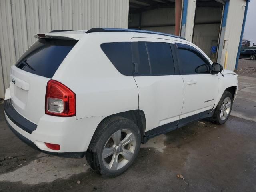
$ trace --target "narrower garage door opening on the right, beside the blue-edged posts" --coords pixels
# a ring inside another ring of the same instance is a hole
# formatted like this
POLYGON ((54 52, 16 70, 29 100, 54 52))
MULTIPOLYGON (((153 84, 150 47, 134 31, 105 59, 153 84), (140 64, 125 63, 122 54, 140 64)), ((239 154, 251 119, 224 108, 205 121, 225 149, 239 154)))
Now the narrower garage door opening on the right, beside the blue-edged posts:
POLYGON ((197 0, 192 42, 200 47, 213 62, 221 29, 224 4, 215 0, 197 0))

